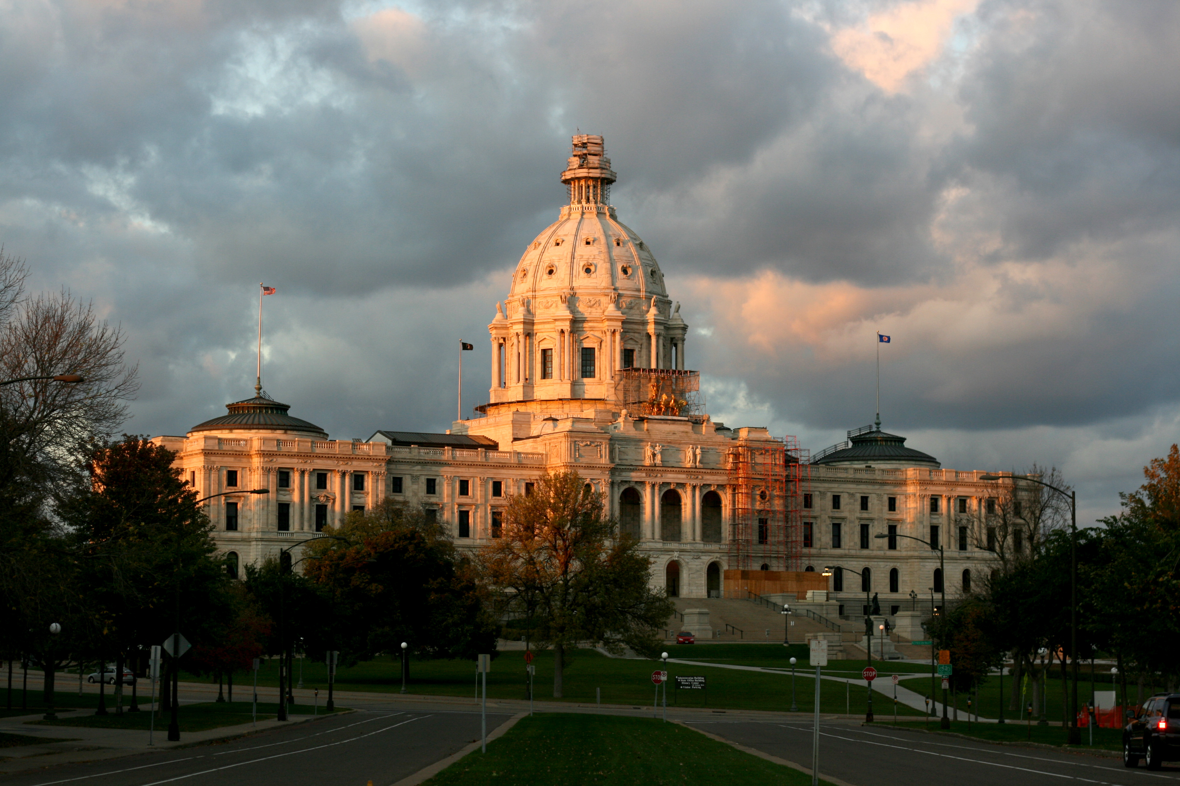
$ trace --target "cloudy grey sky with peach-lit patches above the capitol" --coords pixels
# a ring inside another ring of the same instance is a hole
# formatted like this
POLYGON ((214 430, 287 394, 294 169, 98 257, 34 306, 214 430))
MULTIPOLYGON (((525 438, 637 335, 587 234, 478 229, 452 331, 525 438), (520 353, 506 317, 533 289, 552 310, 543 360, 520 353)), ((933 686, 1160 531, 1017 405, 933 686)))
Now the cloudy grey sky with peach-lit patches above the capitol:
MULTIPOLYGON (((1174 0, 0 0, 0 243, 93 299, 183 434, 263 382, 445 429, 607 137, 729 425, 873 418, 1062 468, 1080 521, 1180 440, 1174 0)), ((470 409, 468 409, 470 411, 470 409)))

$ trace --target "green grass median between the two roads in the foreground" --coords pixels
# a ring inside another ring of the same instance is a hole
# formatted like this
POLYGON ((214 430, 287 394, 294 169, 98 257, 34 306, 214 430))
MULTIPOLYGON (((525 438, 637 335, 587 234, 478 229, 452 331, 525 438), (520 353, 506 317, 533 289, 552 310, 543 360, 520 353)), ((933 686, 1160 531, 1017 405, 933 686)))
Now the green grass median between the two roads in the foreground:
MULTIPOLYGON (((742 753, 699 732, 649 718, 538 714, 474 751, 430 786, 500 784, 811 784, 796 770, 742 753)), ((827 781, 821 781, 827 782, 827 781)))

